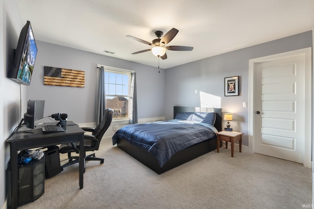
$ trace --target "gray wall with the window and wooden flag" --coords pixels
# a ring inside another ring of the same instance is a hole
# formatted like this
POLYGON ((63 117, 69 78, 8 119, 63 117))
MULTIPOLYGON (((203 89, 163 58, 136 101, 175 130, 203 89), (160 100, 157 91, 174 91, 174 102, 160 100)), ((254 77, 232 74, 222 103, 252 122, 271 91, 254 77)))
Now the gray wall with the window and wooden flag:
POLYGON ((67 113, 76 123, 96 121, 97 64, 134 70, 138 118, 164 116, 164 70, 65 46, 36 41, 38 53, 26 99, 45 100, 44 116, 67 113), (44 85, 44 66, 85 71, 85 88, 44 85))

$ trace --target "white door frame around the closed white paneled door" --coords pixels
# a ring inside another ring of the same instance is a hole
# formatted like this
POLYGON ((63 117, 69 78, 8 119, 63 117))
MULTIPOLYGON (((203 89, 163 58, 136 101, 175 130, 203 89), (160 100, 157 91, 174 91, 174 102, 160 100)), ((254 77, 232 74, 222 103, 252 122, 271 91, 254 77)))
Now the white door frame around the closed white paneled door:
POLYGON ((256 79, 256 65, 261 62, 273 61, 287 58, 290 56, 304 54, 305 56, 305 144, 304 144, 304 163, 305 167, 312 167, 312 47, 297 49, 279 54, 273 54, 265 57, 259 57, 249 60, 249 153, 255 153, 254 150, 254 125, 255 110, 254 107, 254 80, 256 79))

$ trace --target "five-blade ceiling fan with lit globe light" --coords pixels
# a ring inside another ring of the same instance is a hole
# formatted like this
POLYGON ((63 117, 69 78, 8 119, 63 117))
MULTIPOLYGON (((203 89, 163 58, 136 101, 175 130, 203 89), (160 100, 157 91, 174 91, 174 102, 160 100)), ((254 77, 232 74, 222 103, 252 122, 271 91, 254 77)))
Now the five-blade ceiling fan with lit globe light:
POLYGON ((141 51, 134 52, 132 54, 139 54, 146 51, 152 51, 155 56, 161 59, 167 59, 166 49, 173 50, 173 51, 191 51, 193 50, 193 47, 191 46, 165 46, 168 44, 179 32, 176 28, 172 28, 169 30, 161 39, 160 37, 163 35, 163 32, 160 30, 155 31, 155 35, 157 36, 157 39, 154 39, 152 43, 149 43, 147 41, 144 41, 142 39, 133 37, 133 36, 127 36, 128 38, 131 38, 135 41, 141 42, 143 44, 147 44, 150 46, 153 46, 153 48, 150 49, 144 49, 141 51))

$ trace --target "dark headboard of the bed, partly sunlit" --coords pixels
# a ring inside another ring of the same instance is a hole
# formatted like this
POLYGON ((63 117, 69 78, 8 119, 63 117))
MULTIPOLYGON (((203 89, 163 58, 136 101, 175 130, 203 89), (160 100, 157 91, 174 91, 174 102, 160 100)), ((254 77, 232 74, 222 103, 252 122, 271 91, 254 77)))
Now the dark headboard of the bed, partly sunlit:
POLYGON ((215 128, 218 131, 222 131, 222 112, 221 108, 209 108, 209 107, 173 107, 173 118, 176 117, 177 113, 188 113, 188 112, 203 112, 203 113, 216 113, 215 128))

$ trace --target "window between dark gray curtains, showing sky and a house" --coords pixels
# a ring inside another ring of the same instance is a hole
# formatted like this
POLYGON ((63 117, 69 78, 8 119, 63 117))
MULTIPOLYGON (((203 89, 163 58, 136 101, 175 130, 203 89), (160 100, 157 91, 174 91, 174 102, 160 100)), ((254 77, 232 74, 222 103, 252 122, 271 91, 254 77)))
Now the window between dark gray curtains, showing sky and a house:
POLYGON ((106 108, 113 110, 113 119, 129 119, 131 73, 105 69, 106 108))

